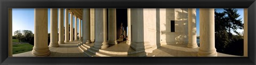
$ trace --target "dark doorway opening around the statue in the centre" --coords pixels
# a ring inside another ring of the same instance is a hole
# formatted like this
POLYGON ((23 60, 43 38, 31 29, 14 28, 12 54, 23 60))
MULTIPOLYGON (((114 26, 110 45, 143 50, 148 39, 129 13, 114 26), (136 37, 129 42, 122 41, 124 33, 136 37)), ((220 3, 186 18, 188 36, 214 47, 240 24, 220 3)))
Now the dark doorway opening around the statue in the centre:
POLYGON ((116 38, 119 39, 121 32, 121 23, 123 23, 125 36, 127 35, 127 8, 116 8, 116 38))

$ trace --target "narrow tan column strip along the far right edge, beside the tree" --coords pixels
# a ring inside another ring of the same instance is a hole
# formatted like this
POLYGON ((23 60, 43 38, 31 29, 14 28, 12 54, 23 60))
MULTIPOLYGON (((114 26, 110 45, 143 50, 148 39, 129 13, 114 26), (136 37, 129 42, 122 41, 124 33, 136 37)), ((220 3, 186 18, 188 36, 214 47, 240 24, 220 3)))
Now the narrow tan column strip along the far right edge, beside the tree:
POLYGON ((247 8, 244 8, 244 57, 248 57, 248 21, 247 8))

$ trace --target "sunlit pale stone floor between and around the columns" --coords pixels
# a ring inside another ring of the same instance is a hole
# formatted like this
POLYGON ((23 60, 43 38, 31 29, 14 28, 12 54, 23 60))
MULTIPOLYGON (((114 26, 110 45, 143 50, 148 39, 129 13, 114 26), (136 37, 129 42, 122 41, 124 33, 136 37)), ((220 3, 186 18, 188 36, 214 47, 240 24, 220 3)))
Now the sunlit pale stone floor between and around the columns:
MULTIPOLYGON (((65 44, 60 44, 60 47, 54 48, 49 47, 51 54, 49 57, 88 57, 82 51, 78 49, 78 42, 68 42, 65 44)), ((90 44, 92 46, 93 44, 90 44)), ((150 55, 154 55, 154 57, 197 57, 197 51, 199 48, 187 48, 187 44, 173 44, 173 45, 161 45, 156 50, 153 50, 153 53, 149 53, 150 55)), ((108 51, 134 51, 130 48, 130 45, 125 43, 119 43, 116 45, 112 45, 107 49, 108 51)), ((31 54, 31 51, 13 54, 13 57, 35 57, 31 54)), ((224 54, 218 52, 218 57, 240 57, 236 55, 224 54)))

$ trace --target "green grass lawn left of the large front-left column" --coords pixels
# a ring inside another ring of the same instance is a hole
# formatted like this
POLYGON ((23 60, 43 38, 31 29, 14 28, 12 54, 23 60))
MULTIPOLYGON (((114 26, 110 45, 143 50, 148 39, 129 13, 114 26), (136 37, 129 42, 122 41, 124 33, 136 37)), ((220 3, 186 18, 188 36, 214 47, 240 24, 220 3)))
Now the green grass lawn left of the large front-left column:
POLYGON ((22 53, 33 50, 33 45, 29 43, 13 44, 12 54, 22 53))

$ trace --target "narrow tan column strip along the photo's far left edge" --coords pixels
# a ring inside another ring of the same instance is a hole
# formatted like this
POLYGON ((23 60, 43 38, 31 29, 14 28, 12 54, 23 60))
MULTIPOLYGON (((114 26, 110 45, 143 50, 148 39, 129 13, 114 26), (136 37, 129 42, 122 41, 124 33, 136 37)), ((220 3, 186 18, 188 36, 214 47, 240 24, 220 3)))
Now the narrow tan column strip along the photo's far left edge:
POLYGON ((8 9, 8 18, 9 18, 9 27, 8 27, 8 31, 9 31, 9 35, 8 35, 8 57, 12 57, 12 8, 8 9))

